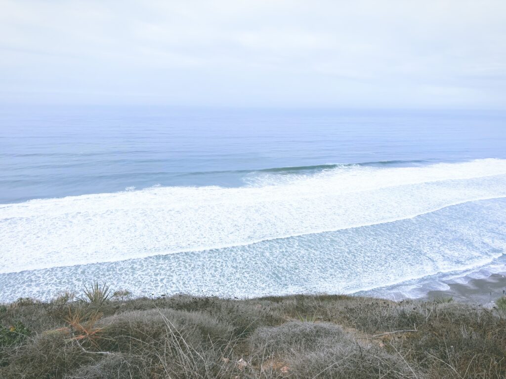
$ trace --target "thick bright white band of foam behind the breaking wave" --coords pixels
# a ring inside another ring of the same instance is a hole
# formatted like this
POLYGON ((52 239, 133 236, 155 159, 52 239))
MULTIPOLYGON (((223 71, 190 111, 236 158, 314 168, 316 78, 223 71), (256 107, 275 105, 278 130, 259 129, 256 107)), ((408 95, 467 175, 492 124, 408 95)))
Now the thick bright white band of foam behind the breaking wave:
POLYGON ((0 273, 247 245, 501 197, 506 160, 484 159, 32 200, 0 206, 0 273))

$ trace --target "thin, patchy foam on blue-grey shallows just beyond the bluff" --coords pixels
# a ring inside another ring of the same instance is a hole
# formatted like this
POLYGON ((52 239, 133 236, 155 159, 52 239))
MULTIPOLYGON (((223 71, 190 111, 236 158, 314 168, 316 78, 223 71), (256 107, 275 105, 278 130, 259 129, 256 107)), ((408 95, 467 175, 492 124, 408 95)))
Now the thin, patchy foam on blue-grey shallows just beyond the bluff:
POLYGON ((92 278, 136 296, 294 293, 423 296, 455 275, 506 271, 506 199, 412 219, 224 249, 0 274, 0 301, 79 292, 92 278), (388 286, 388 287, 386 287, 388 286))

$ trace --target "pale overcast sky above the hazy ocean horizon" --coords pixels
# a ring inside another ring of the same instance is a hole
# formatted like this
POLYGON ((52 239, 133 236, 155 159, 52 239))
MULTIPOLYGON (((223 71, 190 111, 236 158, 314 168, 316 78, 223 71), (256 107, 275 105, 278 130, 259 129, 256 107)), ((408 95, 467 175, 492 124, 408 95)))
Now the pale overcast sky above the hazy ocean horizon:
POLYGON ((506 107, 506 2, 0 0, 0 103, 506 107))

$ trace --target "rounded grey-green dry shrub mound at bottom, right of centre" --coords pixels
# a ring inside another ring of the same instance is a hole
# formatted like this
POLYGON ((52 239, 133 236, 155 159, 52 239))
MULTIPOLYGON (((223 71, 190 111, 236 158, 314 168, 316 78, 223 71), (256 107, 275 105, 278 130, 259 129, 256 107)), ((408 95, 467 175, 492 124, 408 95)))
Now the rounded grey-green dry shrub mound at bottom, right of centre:
POLYGON ((331 323, 287 322, 249 338, 257 357, 274 357, 294 378, 415 377, 399 357, 357 342, 331 323))

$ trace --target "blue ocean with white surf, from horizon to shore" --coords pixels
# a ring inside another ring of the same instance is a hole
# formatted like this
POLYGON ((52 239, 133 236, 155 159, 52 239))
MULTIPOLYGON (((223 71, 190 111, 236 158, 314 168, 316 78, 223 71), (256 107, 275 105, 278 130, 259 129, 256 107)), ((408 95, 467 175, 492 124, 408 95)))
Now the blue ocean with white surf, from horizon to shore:
POLYGON ((0 301, 418 297, 506 271, 506 114, 0 110, 0 301))

